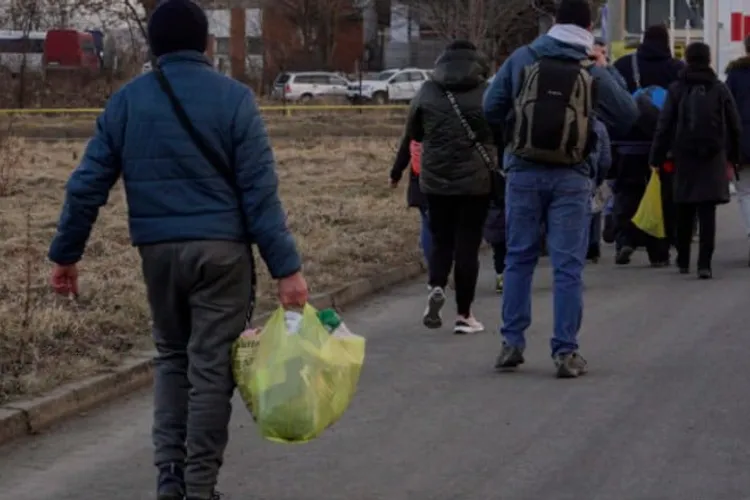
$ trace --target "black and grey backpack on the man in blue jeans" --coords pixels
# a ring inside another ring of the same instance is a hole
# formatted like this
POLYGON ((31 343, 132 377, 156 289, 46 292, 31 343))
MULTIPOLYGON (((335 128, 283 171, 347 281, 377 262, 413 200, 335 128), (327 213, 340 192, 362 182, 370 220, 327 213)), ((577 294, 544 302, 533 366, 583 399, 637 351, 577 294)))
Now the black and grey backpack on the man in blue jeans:
POLYGON ((593 146, 592 61, 540 58, 514 101, 510 151, 545 165, 578 165, 593 146))

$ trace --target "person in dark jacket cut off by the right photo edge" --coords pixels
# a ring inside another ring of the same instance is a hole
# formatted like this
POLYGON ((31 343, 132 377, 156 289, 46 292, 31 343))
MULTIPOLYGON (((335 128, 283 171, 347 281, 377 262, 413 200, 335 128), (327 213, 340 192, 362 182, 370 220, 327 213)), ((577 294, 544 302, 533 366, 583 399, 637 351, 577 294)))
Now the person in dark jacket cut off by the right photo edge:
MULTIPOLYGON (((729 63, 726 73, 727 87, 734 97, 742 120, 742 159, 735 186, 737 204, 745 223, 745 231, 750 237, 750 37, 745 38, 745 55, 729 63)), ((750 254, 748 265, 750 266, 750 254)))

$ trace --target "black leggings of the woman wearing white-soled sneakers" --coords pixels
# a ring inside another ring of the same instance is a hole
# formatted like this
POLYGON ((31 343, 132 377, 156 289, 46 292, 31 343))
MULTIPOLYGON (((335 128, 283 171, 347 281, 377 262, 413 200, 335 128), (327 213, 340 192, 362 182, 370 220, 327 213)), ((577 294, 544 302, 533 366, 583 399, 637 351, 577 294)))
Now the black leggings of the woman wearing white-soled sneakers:
POLYGON ((427 195, 432 254, 430 286, 445 288, 448 275, 456 282, 458 314, 471 314, 479 276, 479 245, 489 209, 489 196, 427 195))

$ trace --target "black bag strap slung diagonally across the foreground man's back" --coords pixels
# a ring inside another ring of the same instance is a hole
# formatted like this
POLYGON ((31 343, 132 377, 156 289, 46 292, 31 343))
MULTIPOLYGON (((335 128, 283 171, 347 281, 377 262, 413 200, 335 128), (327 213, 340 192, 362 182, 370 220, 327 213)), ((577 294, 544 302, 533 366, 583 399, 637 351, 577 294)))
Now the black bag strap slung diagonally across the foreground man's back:
MULTIPOLYGON (((206 141, 206 139, 201 135, 198 129, 196 129, 195 126, 192 124, 192 122, 190 121, 190 118, 185 112, 185 108, 182 107, 180 100, 177 99, 177 96, 175 95, 174 90, 172 89, 172 86, 169 83, 169 80, 167 80, 167 76, 164 74, 164 72, 159 67, 159 65, 155 64, 155 61, 154 61, 152 62, 152 66, 153 66, 152 72, 154 76, 156 77, 157 81, 159 82, 159 86, 161 87, 162 91, 169 98, 169 102, 172 104, 172 110, 174 111, 174 114, 177 115, 177 119, 179 120, 180 125, 182 125, 182 128, 190 136, 190 139, 193 141, 193 143, 201 152, 201 154, 206 159, 206 161, 208 161, 208 163, 224 178, 226 183, 234 191, 235 197, 237 198, 237 206, 240 211, 240 220, 242 221, 242 229, 243 231, 247 232, 247 228, 248 228, 247 215, 245 214, 245 208, 242 205, 243 193, 240 190, 239 184, 237 184, 237 178, 235 177, 234 172, 229 167, 229 165, 224 161, 221 155, 217 153, 216 150, 214 150, 209 145, 208 141, 206 141)), ((250 291, 250 303, 248 304, 248 308, 247 308, 246 322, 247 322, 247 325, 249 326, 250 320, 252 319, 253 312, 255 310, 255 292, 256 292, 257 283, 258 283, 258 276, 255 272, 255 258, 253 256, 253 247, 252 247, 252 242, 250 242, 249 236, 248 236, 248 250, 250 252, 251 291, 250 291)))

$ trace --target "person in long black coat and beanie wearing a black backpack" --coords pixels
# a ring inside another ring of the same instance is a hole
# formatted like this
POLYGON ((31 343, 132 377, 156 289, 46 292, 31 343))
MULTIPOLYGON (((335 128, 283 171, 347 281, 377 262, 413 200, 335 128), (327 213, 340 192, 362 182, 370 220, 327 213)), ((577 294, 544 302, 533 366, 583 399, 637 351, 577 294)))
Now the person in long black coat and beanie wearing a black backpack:
POLYGON ((672 151, 677 265, 681 273, 689 272, 693 221, 697 216, 700 228, 698 276, 709 279, 716 240, 716 206, 729 202, 727 166, 740 160, 742 131, 732 94, 711 69, 708 45, 692 43, 685 56, 687 67, 680 79, 669 87, 659 116, 650 163, 661 167, 667 153, 672 151), (699 125, 693 126, 693 122, 699 125), (697 144, 693 134, 707 134, 707 130, 715 132, 715 136, 706 135, 697 144))

